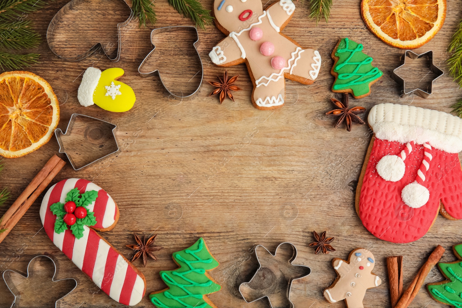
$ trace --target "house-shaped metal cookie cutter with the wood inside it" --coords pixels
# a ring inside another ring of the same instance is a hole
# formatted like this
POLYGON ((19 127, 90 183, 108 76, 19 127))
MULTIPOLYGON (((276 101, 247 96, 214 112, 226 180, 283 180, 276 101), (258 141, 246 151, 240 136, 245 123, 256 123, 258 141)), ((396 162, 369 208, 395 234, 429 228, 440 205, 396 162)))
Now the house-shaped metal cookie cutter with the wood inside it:
POLYGON ((55 130, 59 152, 65 153, 78 171, 120 151, 116 139, 117 126, 88 115, 73 114, 66 128, 55 130))

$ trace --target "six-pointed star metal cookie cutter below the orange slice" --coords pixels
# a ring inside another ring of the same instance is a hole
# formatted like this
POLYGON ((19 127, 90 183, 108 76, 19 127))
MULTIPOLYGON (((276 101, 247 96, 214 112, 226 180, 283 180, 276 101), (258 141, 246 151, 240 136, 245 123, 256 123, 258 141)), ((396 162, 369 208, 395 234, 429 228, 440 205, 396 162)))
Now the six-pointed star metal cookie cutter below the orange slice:
POLYGON ((430 51, 427 51, 426 53, 423 53, 423 54, 416 54, 414 53, 413 51, 411 50, 406 50, 404 52, 404 54, 401 56, 401 65, 396 67, 393 72, 391 73, 390 77, 391 79, 395 80, 402 88, 401 92, 405 95, 411 95, 412 93, 415 93, 416 95, 418 95, 419 97, 422 97, 422 98, 427 98, 429 97, 430 95, 432 95, 432 88, 433 88, 433 81, 435 81, 436 79, 438 79, 440 76, 442 76, 444 74, 444 72, 436 65, 433 64, 433 50, 430 50, 430 51), (430 71, 432 71, 433 73, 435 73, 437 75, 437 77, 435 79, 432 80, 432 83, 430 84, 430 86, 428 87, 428 92, 427 91, 424 91, 424 90, 421 90, 421 89, 414 89, 412 91, 409 91, 409 92, 406 92, 406 86, 405 86, 405 83, 404 83, 404 79, 401 78, 397 73, 396 73, 396 70, 398 70, 399 68, 401 68, 401 66, 405 65, 406 64, 406 57, 409 57, 411 58, 412 60, 415 60, 415 59, 419 59, 419 58, 422 58, 422 57, 428 57, 428 68, 430 69, 430 71))

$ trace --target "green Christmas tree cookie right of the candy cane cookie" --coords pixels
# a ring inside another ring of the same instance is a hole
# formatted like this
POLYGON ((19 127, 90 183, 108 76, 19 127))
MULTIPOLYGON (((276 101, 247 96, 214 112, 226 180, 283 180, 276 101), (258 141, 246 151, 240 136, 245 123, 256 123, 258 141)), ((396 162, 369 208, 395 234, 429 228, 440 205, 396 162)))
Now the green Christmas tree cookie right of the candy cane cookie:
POLYGON ((168 288, 149 295, 158 308, 216 308, 206 294, 217 292, 221 286, 207 274, 219 266, 219 262, 200 238, 188 249, 173 254, 180 266, 174 271, 160 271, 160 277, 168 288))

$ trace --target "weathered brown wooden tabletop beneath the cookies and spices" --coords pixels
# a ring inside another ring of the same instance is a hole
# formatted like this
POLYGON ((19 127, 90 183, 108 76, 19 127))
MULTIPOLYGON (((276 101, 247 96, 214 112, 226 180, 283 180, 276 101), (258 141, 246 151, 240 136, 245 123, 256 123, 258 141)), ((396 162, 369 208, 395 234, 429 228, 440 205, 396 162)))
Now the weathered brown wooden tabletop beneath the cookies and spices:
MULTIPOLYGON (((201 2, 206 8, 212 8, 211 0, 201 2)), ((261 301, 246 304, 238 292, 239 284, 251 278, 256 269, 252 248, 258 244, 270 251, 280 242, 296 245, 296 263, 310 266, 312 273, 293 283, 291 299, 296 307, 306 308, 345 307, 343 302, 329 304, 322 290, 335 278, 331 260, 345 259, 357 247, 369 248, 375 255, 374 272, 383 281, 379 287, 367 291, 365 307, 390 306, 387 256, 404 256, 405 285, 437 244, 447 250, 442 261, 455 260, 450 248, 462 242, 460 221, 439 215, 426 236, 408 244, 378 240, 363 227, 354 209, 354 196, 371 131, 367 125, 357 124, 350 133, 343 125, 334 129, 334 120, 324 113, 332 108, 329 97, 340 98, 330 91, 334 81, 330 74, 333 64, 330 54, 338 40, 346 36, 363 43, 365 53, 374 58, 373 65, 384 72, 383 78, 372 86, 370 96, 350 100, 353 106, 370 109, 377 103, 401 103, 450 112, 450 106, 461 97, 462 91, 444 68, 448 57, 445 51, 460 18, 462 1, 448 0, 443 28, 431 42, 415 50, 417 53, 433 50, 435 63, 445 72, 435 81, 434 94, 428 99, 400 97, 398 85, 389 75, 399 66, 404 51, 383 43, 366 28, 359 2, 334 0, 329 23, 321 21, 318 26, 308 19, 308 1, 296 3, 294 17, 283 33, 303 47, 319 50, 321 72, 313 85, 287 80, 286 105, 269 111, 252 106, 252 85, 245 65, 228 69, 229 75, 240 75, 237 85, 243 88, 234 92, 235 102, 225 100, 220 105, 218 97, 208 97, 214 88, 206 82, 194 100, 169 99, 158 78, 138 75, 140 62, 152 50, 150 31, 154 27, 140 29, 137 20, 122 30, 122 52, 117 63, 112 63, 100 51, 78 62, 61 60, 43 40, 38 48, 41 63, 29 70, 46 79, 55 90, 61 104, 58 127, 65 130, 73 113, 109 121, 117 125, 116 135, 122 149, 117 156, 83 171, 74 171, 68 163, 52 184, 78 177, 103 187, 116 200, 121 212, 116 228, 103 236, 126 257, 132 255, 125 245, 134 243, 133 232, 146 233, 146 236, 157 233, 157 245, 164 247, 156 253, 158 261, 148 260, 146 268, 141 261, 134 263, 147 281, 146 296, 137 307, 152 307, 147 294, 164 288, 159 271, 175 269, 172 253, 189 247, 201 236, 220 262, 211 276, 222 285, 222 290, 209 296, 220 308, 267 307, 267 303, 261 301), (120 80, 132 86, 137 96, 134 108, 117 114, 96 105, 81 106, 77 89, 81 74, 88 66, 122 67, 125 75, 120 80), (313 230, 327 230, 328 236, 335 237, 332 245, 337 250, 328 255, 315 255, 308 247, 313 241, 313 230)), ((65 3, 66 0, 53 1, 30 15, 43 38, 52 17, 65 3)), ((155 5, 156 27, 192 25, 166 0, 158 0, 155 5)), ((106 23, 104 18, 97 19, 101 24, 106 23)), ((214 66, 208 53, 225 36, 214 26, 198 31, 204 79, 215 80, 224 69, 214 66)), ((174 90, 191 87, 187 82, 192 77, 190 74, 196 73, 197 64, 188 63, 185 52, 193 51, 194 40, 187 33, 166 35, 159 40, 159 53, 153 56, 155 59, 150 65, 171 74, 165 78, 174 90)), ((428 79, 426 69, 408 75, 421 82, 428 79)), ((4 160, 0 187, 9 187, 11 198, 0 209, 0 214, 58 149, 53 137, 27 156, 4 160)), ((33 256, 50 254, 58 263, 57 278, 79 281, 77 289, 59 302, 60 307, 122 307, 98 291, 49 240, 40 222, 41 201, 39 197, 0 244, 0 271, 25 272, 33 256)), ((426 282, 441 280, 442 275, 434 268, 426 282)), ((41 292, 43 289, 36 286, 28 294, 41 292)), ((10 307, 12 300, 13 296, 0 280, 0 307, 10 307)), ((432 300, 422 288, 410 307, 444 306, 432 300)))

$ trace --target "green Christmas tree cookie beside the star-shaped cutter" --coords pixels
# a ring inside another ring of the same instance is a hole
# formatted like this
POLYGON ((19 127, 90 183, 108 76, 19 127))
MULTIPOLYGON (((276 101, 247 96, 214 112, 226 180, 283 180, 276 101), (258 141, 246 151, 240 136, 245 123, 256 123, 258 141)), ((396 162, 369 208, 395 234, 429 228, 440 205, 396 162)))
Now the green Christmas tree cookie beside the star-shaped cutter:
POLYGON ((363 44, 343 38, 334 48, 335 60, 331 73, 335 77, 332 91, 348 92, 354 98, 371 94, 371 85, 380 79, 383 72, 371 65, 372 58, 362 52, 363 44))

